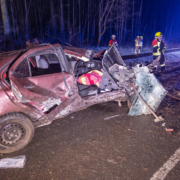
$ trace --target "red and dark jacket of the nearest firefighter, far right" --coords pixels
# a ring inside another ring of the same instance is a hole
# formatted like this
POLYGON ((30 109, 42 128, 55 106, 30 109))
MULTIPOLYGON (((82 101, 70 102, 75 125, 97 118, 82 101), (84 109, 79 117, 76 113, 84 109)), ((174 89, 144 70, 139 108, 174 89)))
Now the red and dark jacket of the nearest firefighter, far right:
POLYGON ((164 54, 166 50, 166 43, 164 41, 159 41, 158 39, 154 39, 152 41, 153 46, 153 56, 160 56, 161 53, 164 54))

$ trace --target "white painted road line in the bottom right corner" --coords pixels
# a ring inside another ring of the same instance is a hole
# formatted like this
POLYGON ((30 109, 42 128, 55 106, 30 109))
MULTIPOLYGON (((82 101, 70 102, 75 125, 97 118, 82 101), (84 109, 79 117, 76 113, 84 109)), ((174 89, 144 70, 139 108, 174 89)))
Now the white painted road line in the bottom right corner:
POLYGON ((180 148, 169 158, 166 163, 153 175, 150 180, 163 180, 168 173, 176 166, 180 161, 180 148))

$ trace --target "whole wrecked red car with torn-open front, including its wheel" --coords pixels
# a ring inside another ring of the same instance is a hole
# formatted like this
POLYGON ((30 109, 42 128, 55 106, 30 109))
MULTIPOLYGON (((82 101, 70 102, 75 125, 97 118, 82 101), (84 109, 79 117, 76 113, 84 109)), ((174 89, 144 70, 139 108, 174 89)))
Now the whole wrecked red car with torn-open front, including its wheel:
POLYGON ((93 104, 127 101, 129 115, 149 114, 148 107, 138 102, 141 94, 156 111, 166 91, 158 83, 155 88, 149 85, 154 83, 154 79, 150 82, 152 76, 146 68, 128 70, 115 46, 97 54, 79 48, 62 48, 59 44, 2 53, 0 153, 24 148, 36 127, 93 104), (89 72, 96 74, 91 77, 89 72), (147 83, 142 79, 145 77, 147 83), (144 85, 148 86, 145 92, 144 85))

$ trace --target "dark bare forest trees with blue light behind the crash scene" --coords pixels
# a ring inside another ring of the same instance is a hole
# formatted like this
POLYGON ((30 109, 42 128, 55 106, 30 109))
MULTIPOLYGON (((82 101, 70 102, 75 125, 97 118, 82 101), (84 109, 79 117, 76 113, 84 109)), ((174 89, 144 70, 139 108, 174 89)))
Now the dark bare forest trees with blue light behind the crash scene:
POLYGON ((0 40, 23 45, 44 42, 47 34, 73 45, 107 45, 112 34, 121 44, 137 35, 150 43, 161 31, 170 43, 180 41, 180 0, 0 0, 0 40))

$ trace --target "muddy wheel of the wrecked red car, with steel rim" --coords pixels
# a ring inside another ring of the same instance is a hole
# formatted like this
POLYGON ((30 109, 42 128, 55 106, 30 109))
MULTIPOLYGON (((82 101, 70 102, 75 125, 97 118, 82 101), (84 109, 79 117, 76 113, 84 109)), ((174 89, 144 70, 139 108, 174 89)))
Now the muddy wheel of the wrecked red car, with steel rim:
POLYGON ((24 148, 34 136, 31 120, 20 113, 0 117, 0 153, 11 153, 24 148))

